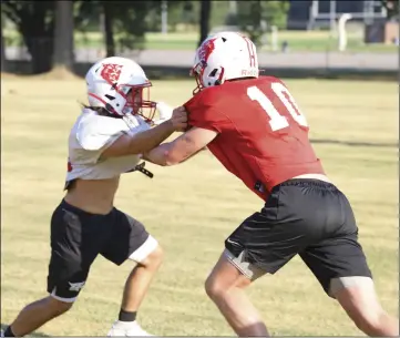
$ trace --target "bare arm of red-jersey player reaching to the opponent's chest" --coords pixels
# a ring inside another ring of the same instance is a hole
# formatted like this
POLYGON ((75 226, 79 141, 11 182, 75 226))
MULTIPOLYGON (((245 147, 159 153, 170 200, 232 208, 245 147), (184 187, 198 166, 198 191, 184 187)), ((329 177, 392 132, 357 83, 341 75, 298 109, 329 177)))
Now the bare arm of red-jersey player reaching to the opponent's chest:
POLYGON ((218 133, 193 127, 170 143, 163 143, 143 154, 143 158, 162 166, 175 165, 202 151, 218 133))

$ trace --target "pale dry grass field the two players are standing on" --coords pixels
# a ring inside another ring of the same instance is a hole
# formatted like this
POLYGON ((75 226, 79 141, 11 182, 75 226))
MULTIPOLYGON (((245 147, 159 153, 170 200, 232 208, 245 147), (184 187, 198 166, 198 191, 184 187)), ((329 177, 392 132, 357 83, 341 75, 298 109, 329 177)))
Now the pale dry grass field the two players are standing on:
MULTIPOLYGON (((308 116, 328 175, 352 203, 380 299, 398 315, 398 85, 287 84, 308 116)), ((181 104, 193 86, 193 81, 156 81, 153 96, 181 104)), ((3 78, 1 99, 1 321, 8 324, 47 295, 49 219, 63 196, 66 139, 84 82, 3 78)), ((148 167, 154 180, 125 175, 116 197, 116 206, 142 221, 165 249, 140 322, 155 335, 232 335, 203 285, 225 237, 263 203, 207 152, 176 167, 148 167)), ((132 267, 99 257, 74 308, 39 334, 104 336, 132 267)), ((274 335, 360 335, 298 258, 258 280, 249 295, 274 335)))

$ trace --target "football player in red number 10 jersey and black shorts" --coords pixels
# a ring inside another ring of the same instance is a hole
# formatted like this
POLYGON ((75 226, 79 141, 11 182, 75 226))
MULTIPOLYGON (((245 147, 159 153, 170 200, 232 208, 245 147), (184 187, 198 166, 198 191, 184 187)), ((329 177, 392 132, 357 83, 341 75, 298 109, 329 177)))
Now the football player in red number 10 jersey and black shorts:
POLYGON ((232 32, 209 37, 192 73, 197 88, 184 104, 192 129, 146 158, 173 165, 207 146, 265 202, 225 240, 205 284, 235 332, 268 335, 244 289, 298 254, 360 330, 399 336, 398 319, 378 300, 351 206, 325 175, 287 86, 258 76, 254 43, 232 32))

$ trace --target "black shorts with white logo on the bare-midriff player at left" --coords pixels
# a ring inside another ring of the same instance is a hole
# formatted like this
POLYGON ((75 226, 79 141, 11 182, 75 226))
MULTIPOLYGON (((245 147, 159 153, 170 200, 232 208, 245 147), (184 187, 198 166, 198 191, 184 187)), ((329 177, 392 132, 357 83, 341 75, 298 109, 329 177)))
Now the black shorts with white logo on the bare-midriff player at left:
POLYGON ((73 301, 99 254, 121 265, 148 238, 140 222, 116 208, 96 215, 62 201, 51 218, 48 291, 57 299, 73 301))

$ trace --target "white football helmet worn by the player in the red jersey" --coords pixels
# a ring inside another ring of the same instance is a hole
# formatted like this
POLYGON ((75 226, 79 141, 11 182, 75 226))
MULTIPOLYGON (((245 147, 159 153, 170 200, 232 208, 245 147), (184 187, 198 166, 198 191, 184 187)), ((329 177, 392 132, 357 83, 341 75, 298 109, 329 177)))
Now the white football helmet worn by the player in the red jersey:
POLYGON ((204 88, 218 85, 227 80, 258 78, 256 45, 236 32, 209 35, 197 49, 191 75, 196 78, 196 94, 204 88))

